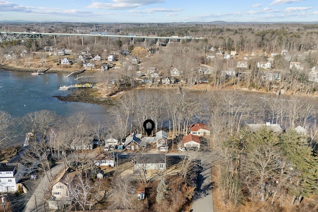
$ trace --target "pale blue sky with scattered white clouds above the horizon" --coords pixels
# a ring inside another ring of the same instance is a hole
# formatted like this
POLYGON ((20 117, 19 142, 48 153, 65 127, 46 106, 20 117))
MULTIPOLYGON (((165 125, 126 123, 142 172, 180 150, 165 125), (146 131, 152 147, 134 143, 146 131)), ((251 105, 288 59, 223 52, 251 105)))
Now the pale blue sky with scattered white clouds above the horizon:
POLYGON ((318 21, 318 0, 0 0, 0 20, 318 21))

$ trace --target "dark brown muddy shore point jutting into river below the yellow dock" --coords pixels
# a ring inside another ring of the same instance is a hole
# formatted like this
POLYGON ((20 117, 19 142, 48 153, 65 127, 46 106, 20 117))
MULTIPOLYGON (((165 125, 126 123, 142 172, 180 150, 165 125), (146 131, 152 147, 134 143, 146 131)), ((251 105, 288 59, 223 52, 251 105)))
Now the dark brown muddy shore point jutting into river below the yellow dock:
POLYGON ((96 88, 80 88, 67 96, 53 96, 65 102, 84 102, 97 105, 113 105, 110 98, 101 98, 96 88))

